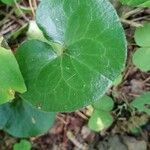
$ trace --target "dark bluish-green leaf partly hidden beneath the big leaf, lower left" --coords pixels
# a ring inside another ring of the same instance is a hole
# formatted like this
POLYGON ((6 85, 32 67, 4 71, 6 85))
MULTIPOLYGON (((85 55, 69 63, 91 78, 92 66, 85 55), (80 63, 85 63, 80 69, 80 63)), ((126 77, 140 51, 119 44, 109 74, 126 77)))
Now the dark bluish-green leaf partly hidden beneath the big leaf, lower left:
POLYGON ((47 132, 55 114, 32 108, 21 99, 0 106, 0 129, 16 137, 31 137, 47 132))

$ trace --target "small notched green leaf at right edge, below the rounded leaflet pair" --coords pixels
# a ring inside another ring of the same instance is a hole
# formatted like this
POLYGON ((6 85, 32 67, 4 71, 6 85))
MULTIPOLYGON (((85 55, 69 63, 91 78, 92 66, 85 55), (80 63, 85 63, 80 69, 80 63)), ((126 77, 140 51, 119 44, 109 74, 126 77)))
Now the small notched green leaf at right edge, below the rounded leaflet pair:
POLYGON ((131 102, 131 106, 135 107, 140 112, 145 112, 150 115, 150 92, 144 93, 131 102))

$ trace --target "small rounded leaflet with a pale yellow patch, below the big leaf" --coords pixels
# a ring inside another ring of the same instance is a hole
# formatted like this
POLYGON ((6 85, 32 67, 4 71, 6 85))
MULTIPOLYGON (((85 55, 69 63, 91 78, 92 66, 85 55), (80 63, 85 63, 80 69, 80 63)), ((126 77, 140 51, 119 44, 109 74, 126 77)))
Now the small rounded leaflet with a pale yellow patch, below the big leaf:
POLYGON ((113 123, 113 117, 109 112, 94 110, 91 118, 89 119, 88 126, 94 131, 101 131, 108 128, 113 123))

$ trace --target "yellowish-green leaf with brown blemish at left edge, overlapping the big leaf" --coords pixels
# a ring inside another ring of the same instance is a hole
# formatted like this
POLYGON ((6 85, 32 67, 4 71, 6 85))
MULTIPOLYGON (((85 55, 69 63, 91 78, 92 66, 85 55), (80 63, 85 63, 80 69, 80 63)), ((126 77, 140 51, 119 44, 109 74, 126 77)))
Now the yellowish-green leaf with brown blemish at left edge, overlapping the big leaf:
POLYGON ((0 104, 26 91, 17 61, 10 50, 0 47, 0 104))

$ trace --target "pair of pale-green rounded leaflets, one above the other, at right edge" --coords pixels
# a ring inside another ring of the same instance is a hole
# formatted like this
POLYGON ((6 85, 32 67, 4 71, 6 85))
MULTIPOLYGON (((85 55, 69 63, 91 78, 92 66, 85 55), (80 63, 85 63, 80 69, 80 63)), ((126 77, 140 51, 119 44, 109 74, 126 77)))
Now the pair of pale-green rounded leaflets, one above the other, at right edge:
POLYGON ((150 70, 150 24, 144 24, 144 27, 137 28, 135 32, 135 41, 141 46, 133 56, 133 63, 142 71, 150 70))

